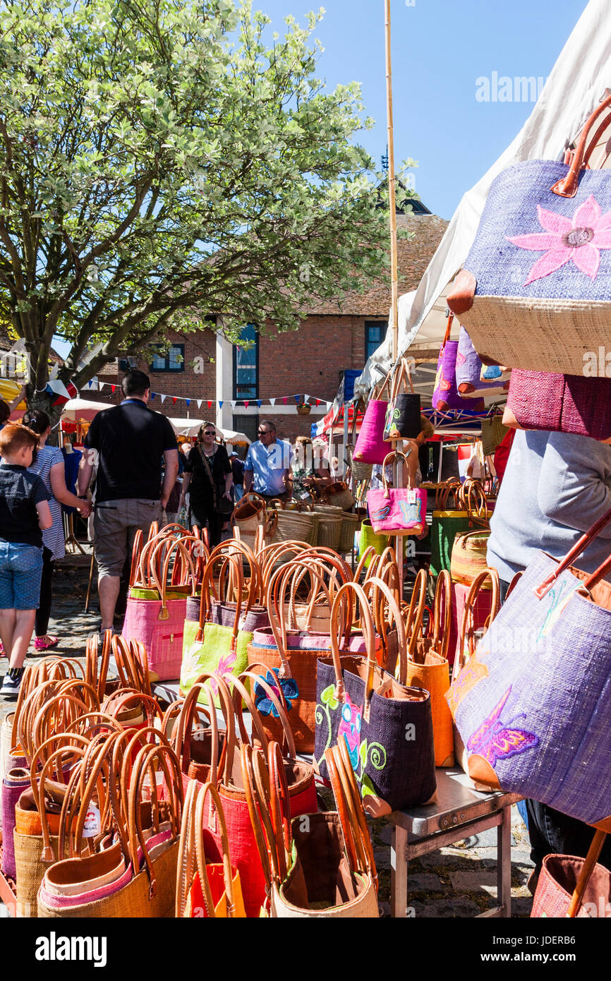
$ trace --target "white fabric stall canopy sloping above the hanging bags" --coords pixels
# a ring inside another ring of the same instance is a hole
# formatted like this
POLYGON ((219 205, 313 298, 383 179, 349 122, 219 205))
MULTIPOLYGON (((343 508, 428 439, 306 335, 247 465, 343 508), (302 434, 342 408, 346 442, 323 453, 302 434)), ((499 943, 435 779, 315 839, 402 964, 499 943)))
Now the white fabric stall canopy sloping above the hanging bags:
MULTIPOLYGON (((484 177, 463 196, 418 288, 399 298, 399 353, 438 349, 445 333, 445 301, 452 281, 473 244, 491 182, 501 171, 524 160, 558 160, 568 141, 611 86, 611 4, 589 0, 565 44, 531 116, 484 177)), ((601 151, 607 133, 600 137, 601 151)), ((596 166, 595 156, 591 160, 596 166)), ((366 394, 392 361, 390 328, 365 365, 355 390, 366 394)), ((434 382, 434 369, 433 379, 434 382)), ((430 394, 433 393, 431 388, 430 394)))

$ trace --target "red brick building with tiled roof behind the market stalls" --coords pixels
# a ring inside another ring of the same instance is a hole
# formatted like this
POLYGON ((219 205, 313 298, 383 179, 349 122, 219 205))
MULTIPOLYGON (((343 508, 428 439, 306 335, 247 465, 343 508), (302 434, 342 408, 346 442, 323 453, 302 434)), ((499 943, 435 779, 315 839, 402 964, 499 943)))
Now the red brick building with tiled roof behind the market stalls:
MULTIPOLYGON (((414 201, 414 214, 397 214, 397 225, 415 232, 411 239, 399 239, 399 294, 419 284, 447 222, 432 215, 414 201)), ((309 434, 313 422, 327 412, 327 401, 337 392, 341 373, 361 369, 381 343, 390 307, 389 277, 374 281, 364 293, 350 293, 341 302, 313 303, 303 311, 296 332, 278 335, 274 325, 266 325, 259 335, 253 325, 244 335, 253 341, 248 349, 234 346, 216 335, 215 324, 202 318, 202 328, 192 334, 168 332, 168 353, 150 351, 147 361, 129 359, 132 367, 146 371, 157 392, 152 407, 168 416, 209 419, 226 430, 246 433, 257 439, 260 418, 272 419, 280 438, 293 440, 309 434), (166 395, 162 402, 161 395, 166 395), (298 415, 294 395, 321 399, 309 415, 298 415), (178 398, 177 396, 181 396, 178 398), (282 396, 287 396, 286 404, 282 396), (177 397, 177 401, 174 398, 177 397), (184 398, 191 399, 189 406, 184 398), (272 406, 271 398, 277 399, 272 406), (202 404, 198 407, 197 400, 202 404), (257 401, 262 405, 258 406, 257 401), (211 402, 210 407, 208 401, 211 402), (220 405, 223 402, 223 405, 220 405), (231 403, 237 403, 232 406, 231 403), (244 402, 248 402, 247 406, 244 402)), ((118 359, 98 375, 100 382, 118 385, 127 360, 118 359)), ((119 390, 84 389, 81 395, 114 404, 119 390)))

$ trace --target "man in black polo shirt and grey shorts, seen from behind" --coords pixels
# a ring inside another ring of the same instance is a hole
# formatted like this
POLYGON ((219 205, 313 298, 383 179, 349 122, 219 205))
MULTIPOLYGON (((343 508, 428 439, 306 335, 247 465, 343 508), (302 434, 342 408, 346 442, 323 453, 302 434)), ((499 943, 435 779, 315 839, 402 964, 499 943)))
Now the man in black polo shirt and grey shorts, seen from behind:
POLYGON ((78 494, 84 496, 97 462, 93 530, 102 630, 112 629, 121 573, 135 533, 141 529, 146 537, 151 522, 160 520, 178 475, 174 430, 165 416, 146 404, 151 394, 148 376, 129 372, 121 387, 121 405, 104 409, 91 423, 78 470, 78 494), (91 451, 97 452, 97 460, 91 451))

